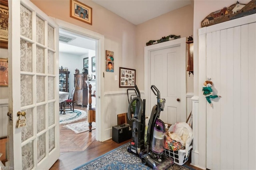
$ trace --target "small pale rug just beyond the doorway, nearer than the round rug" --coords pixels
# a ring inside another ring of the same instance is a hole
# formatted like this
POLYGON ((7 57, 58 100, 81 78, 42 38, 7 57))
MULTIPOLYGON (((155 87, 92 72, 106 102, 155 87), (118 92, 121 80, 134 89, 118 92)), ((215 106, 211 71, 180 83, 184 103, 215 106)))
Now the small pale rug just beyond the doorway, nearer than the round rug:
MULTIPOLYGON (((75 133, 82 133, 89 130, 89 123, 87 121, 72 123, 65 125, 66 128, 73 130, 75 133)), ((92 122, 92 130, 96 128, 96 123, 92 122)))

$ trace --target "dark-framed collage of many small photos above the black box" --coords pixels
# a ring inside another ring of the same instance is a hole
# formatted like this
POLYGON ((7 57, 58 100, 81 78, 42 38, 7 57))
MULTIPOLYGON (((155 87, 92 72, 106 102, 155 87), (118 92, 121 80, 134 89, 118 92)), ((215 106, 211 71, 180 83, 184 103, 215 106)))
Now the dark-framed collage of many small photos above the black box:
POLYGON ((134 87, 136 84, 136 70, 119 67, 119 87, 134 87))

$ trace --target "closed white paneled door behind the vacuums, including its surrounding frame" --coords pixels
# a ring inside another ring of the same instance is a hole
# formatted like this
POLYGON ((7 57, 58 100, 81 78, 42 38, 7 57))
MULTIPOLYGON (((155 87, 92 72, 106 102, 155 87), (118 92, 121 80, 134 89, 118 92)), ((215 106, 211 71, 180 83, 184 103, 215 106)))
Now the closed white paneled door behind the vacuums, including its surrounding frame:
POLYGON ((150 113, 157 104, 155 85, 166 99, 160 119, 175 124, 186 121, 186 38, 145 47, 145 94, 150 113))

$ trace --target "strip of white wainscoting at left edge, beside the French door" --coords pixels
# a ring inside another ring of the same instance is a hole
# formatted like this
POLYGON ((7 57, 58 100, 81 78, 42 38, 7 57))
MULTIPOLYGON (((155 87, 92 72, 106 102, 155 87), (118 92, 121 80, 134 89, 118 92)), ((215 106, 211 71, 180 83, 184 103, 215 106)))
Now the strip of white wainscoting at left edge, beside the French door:
POLYGON ((7 136, 8 99, 0 99, 0 137, 7 136))

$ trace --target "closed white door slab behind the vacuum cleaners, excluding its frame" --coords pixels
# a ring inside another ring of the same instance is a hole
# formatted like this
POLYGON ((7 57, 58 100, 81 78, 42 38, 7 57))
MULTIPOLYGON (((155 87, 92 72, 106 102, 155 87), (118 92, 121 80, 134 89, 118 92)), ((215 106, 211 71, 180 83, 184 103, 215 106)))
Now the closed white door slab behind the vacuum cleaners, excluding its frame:
MULTIPOLYGON (((151 85, 155 85, 160 91, 161 98, 166 99, 165 109, 160 114, 160 119, 165 123, 175 124, 180 119, 180 103, 176 100, 180 98, 180 80, 177 76, 179 71, 180 46, 170 47, 152 51, 150 54, 151 65, 151 85), (154 69, 153 69, 154 68, 154 69)), ((156 105, 156 96, 151 93, 151 106, 156 105)))

